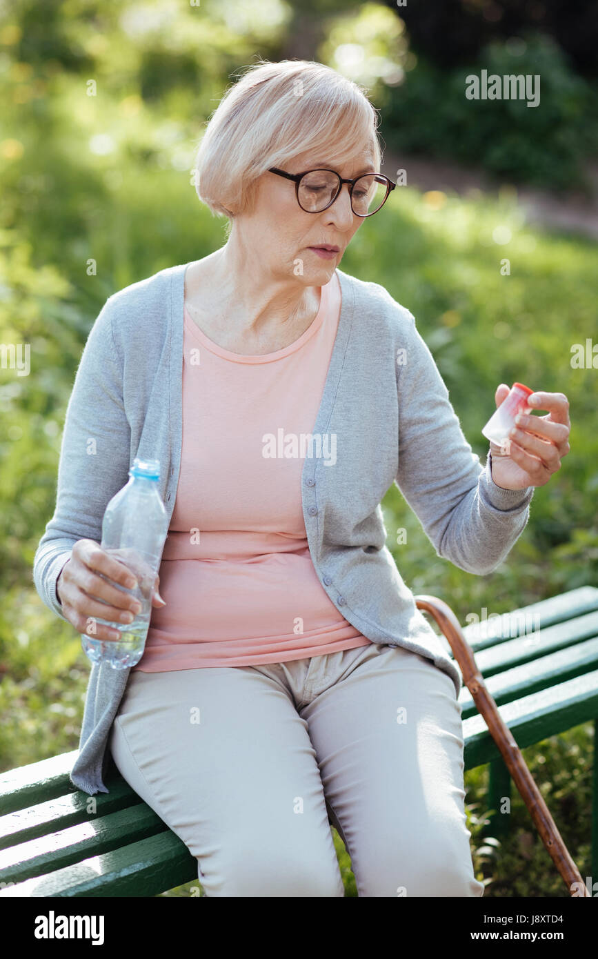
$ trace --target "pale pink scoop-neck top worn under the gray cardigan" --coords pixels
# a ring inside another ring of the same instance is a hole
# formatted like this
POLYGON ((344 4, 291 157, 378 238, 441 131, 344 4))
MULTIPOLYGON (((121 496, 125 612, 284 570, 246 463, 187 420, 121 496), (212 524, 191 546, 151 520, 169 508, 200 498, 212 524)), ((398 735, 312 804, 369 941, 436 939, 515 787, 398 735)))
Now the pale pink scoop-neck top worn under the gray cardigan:
MULTIPOLYGON (((223 349, 185 309, 181 466, 160 565, 167 605, 152 607, 134 669, 256 666, 371 643, 317 577, 301 500, 304 457, 320 452, 305 436, 340 302, 334 272, 311 326, 264 356, 223 349)), ((334 441, 321 440, 330 469, 334 441)))

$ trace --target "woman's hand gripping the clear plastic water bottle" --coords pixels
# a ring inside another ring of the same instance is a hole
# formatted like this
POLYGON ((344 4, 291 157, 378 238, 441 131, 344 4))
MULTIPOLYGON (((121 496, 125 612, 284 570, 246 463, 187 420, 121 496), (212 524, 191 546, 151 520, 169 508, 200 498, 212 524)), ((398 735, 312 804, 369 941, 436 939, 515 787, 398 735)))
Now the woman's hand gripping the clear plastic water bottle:
MULTIPOLYGON (((65 619, 72 623, 79 633, 93 636, 97 640, 120 640, 121 634, 116 629, 97 621, 88 623, 88 620, 132 622, 139 613, 141 604, 134 596, 129 596, 106 582, 98 573, 125 589, 134 589, 137 585, 127 566, 109 556, 95 540, 81 539, 75 543, 70 559, 58 574, 58 601, 65 619), (110 605, 99 602, 97 597, 110 605)), ((158 579, 159 576, 156 576, 156 582, 158 579)), ((157 595, 156 592, 154 596, 157 595)))

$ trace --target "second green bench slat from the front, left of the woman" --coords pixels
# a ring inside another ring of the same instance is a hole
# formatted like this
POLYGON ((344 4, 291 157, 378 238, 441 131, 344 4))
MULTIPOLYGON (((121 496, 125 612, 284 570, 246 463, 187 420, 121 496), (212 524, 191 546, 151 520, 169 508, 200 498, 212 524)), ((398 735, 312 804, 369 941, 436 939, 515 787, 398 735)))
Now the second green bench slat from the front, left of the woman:
POLYGON ((167 829, 164 820, 140 801, 137 806, 3 850, 0 873, 4 881, 22 881, 80 862, 92 852, 108 853, 167 829))

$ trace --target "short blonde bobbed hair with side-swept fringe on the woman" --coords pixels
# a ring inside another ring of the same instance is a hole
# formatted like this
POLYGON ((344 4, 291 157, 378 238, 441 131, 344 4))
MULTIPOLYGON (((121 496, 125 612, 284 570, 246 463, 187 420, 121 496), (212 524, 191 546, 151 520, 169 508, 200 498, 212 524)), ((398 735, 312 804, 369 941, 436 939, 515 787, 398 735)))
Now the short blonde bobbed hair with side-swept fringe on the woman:
POLYGON ((255 184, 300 153, 338 164, 370 149, 380 173, 379 114, 360 84, 312 60, 260 59, 228 87, 196 152, 197 196, 231 219, 251 210, 255 184))

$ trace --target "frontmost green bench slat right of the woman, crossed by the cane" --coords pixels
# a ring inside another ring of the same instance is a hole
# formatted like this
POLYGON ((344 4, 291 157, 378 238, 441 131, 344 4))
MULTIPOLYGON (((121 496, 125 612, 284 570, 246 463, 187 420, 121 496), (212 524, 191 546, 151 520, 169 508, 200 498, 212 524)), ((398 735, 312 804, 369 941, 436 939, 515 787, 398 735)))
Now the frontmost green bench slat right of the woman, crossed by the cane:
MULTIPOLYGON (((505 703, 498 707, 498 712, 520 749, 563 733, 598 715, 598 670, 505 703)), ((502 759, 484 717, 479 713, 464 721, 463 736, 466 769, 502 759)))

